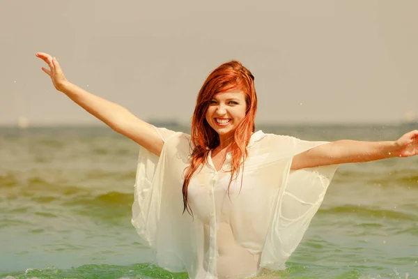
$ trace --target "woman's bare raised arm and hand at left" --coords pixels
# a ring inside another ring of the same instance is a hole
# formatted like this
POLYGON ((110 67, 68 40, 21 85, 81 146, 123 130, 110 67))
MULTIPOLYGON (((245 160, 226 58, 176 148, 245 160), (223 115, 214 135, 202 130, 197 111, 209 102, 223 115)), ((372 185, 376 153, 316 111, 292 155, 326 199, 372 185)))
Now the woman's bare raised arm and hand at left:
POLYGON ((77 105, 83 107, 84 110, 93 114, 116 132, 129 137, 145 149, 160 156, 164 142, 152 125, 137 118, 125 107, 95 96, 68 82, 55 57, 42 52, 38 52, 36 56, 48 64, 49 69, 42 67, 42 70, 51 77, 52 83, 58 91, 65 93, 77 105))

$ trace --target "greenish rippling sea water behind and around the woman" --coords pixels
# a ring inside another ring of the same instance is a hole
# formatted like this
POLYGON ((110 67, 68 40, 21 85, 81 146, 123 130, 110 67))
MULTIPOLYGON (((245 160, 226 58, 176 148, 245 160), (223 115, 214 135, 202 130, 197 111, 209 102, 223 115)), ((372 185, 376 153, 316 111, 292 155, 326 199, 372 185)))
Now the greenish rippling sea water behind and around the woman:
MULTIPOLYGON (((304 140, 394 140, 413 127, 258 128, 304 140)), ((108 128, 0 128, 0 278, 187 278, 153 265, 130 224, 137 152, 108 128)), ((418 278, 417 163, 341 166, 277 276, 418 278)))

